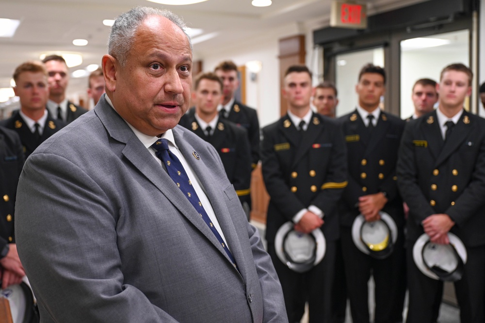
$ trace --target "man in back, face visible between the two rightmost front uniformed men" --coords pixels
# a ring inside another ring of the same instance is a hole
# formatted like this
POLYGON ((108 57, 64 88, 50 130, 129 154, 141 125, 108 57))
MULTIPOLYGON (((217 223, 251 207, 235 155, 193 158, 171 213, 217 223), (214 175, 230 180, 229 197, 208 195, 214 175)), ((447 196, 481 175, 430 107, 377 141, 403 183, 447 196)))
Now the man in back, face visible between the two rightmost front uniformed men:
POLYGON ((438 101, 436 81, 430 78, 420 78, 417 80, 413 85, 411 98, 414 104, 414 114, 406 119, 406 121, 418 119, 433 111, 435 103, 438 101))

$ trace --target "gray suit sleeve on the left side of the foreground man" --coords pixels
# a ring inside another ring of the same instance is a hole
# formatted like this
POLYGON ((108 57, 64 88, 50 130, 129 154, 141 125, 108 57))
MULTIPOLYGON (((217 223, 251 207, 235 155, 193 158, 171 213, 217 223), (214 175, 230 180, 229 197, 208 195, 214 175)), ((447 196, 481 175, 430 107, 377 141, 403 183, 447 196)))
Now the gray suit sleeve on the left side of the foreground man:
POLYGON ((23 201, 16 203, 18 253, 30 264, 34 294, 49 304, 47 321, 176 322, 124 281, 119 206, 78 166, 57 155, 31 155, 17 201, 23 201))

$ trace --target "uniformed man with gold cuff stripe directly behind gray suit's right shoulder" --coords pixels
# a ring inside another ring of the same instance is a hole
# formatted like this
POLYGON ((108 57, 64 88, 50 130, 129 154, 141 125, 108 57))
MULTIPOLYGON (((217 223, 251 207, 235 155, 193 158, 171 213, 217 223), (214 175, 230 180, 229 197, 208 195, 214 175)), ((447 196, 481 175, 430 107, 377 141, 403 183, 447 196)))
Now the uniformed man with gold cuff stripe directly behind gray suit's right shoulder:
POLYGON ((219 153, 227 178, 241 200, 249 219, 251 150, 246 129, 219 117, 222 80, 214 73, 196 77, 192 99, 195 107, 182 116, 179 124, 209 142, 219 153))

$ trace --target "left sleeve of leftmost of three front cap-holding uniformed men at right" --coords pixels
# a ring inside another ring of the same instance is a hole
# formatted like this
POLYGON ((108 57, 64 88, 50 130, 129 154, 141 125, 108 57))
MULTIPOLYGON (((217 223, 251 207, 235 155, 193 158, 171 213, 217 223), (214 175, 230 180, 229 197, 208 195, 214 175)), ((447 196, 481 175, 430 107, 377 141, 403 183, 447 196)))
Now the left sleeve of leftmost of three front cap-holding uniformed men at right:
MULTIPOLYGON (((271 201, 278 207, 279 211, 286 216, 288 221, 307 206, 303 204, 284 180, 284 174, 275 152, 275 139, 271 131, 263 129, 263 140, 261 142, 261 162, 264 185, 268 191, 271 201)), ((317 206, 317 205, 316 205, 317 206)), ((318 207, 318 206, 317 206, 318 207)), ((322 210, 323 211, 323 210, 322 210)))

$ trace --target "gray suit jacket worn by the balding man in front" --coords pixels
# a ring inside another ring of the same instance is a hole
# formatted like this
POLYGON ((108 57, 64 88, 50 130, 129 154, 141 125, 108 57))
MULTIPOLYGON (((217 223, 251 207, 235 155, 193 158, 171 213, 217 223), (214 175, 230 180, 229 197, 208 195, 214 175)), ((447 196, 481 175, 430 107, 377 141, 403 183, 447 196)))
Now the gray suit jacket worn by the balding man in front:
POLYGON ((219 155, 190 131, 173 132, 240 272, 102 97, 20 177, 17 246, 41 322, 287 322, 273 264, 219 155))

